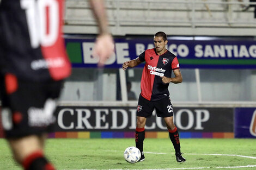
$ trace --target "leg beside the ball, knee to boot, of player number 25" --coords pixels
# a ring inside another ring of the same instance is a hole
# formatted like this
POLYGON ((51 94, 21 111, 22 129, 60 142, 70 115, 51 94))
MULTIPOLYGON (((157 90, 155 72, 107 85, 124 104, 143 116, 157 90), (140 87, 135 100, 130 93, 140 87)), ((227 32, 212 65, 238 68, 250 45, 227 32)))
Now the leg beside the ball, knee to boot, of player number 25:
POLYGON ((136 131, 135 131, 135 143, 136 147, 141 151, 141 159, 139 161, 144 161, 145 156, 143 153, 143 142, 145 139, 145 123, 147 118, 137 116, 137 124, 136 124, 136 131))

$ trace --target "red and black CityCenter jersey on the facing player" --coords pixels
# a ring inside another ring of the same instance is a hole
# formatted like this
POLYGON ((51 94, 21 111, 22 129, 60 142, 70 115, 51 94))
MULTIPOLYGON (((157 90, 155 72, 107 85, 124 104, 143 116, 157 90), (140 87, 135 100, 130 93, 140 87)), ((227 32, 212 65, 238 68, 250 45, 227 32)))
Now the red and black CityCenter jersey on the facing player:
POLYGON ((170 78, 172 70, 179 68, 179 62, 176 56, 166 51, 158 55, 153 49, 147 49, 139 55, 140 61, 145 61, 145 66, 141 78, 141 95, 147 100, 160 100, 169 96, 168 84, 162 82, 160 76, 170 78))

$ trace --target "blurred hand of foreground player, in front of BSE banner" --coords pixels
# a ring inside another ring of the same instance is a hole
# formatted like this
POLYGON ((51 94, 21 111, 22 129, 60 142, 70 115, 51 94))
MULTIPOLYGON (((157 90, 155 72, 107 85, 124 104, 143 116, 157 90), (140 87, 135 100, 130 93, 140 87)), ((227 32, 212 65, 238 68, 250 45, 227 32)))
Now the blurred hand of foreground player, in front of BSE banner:
POLYGON ((114 53, 114 40, 110 34, 99 35, 96 39, 93 56, 99 57, 99 67, 102 67, 106 60, 114 53))

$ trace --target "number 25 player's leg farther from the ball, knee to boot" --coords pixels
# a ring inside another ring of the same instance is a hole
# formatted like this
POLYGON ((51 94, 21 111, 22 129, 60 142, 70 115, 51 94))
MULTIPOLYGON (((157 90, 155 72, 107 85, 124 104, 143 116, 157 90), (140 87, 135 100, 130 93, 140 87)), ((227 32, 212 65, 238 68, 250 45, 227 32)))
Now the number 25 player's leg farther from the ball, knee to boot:
POLYGON ((180 137, 179 137, 178 129, 175 127, 173 123, 173 116, 164 117, 164 122, 166 123, 166 127, 169 131, 170 141, 172 141, 173 147, 175 149, 176 161, 185 162, 186 159, 183 158, 180 152, 180 137))

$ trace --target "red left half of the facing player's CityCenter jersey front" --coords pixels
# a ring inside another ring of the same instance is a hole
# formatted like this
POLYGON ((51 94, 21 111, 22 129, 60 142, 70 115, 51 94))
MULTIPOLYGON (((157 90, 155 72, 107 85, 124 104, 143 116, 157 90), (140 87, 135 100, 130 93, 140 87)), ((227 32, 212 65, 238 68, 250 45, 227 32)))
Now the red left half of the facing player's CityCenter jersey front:
POLYGON ((155 80, 155 75, 150 74, 150 72, 154 70, 150 70, 150 68, 156 67, 158 60, 159 60, 159 55, 156 55, 154 48, 148 49, 147 51, 145 51, 146 64, 142 72, 141 95, 147 100, 151 100, 152 90, 153 90, 153 85, 155 80), (151 60, 150 57, 153 57, 155 59, 151 60))

